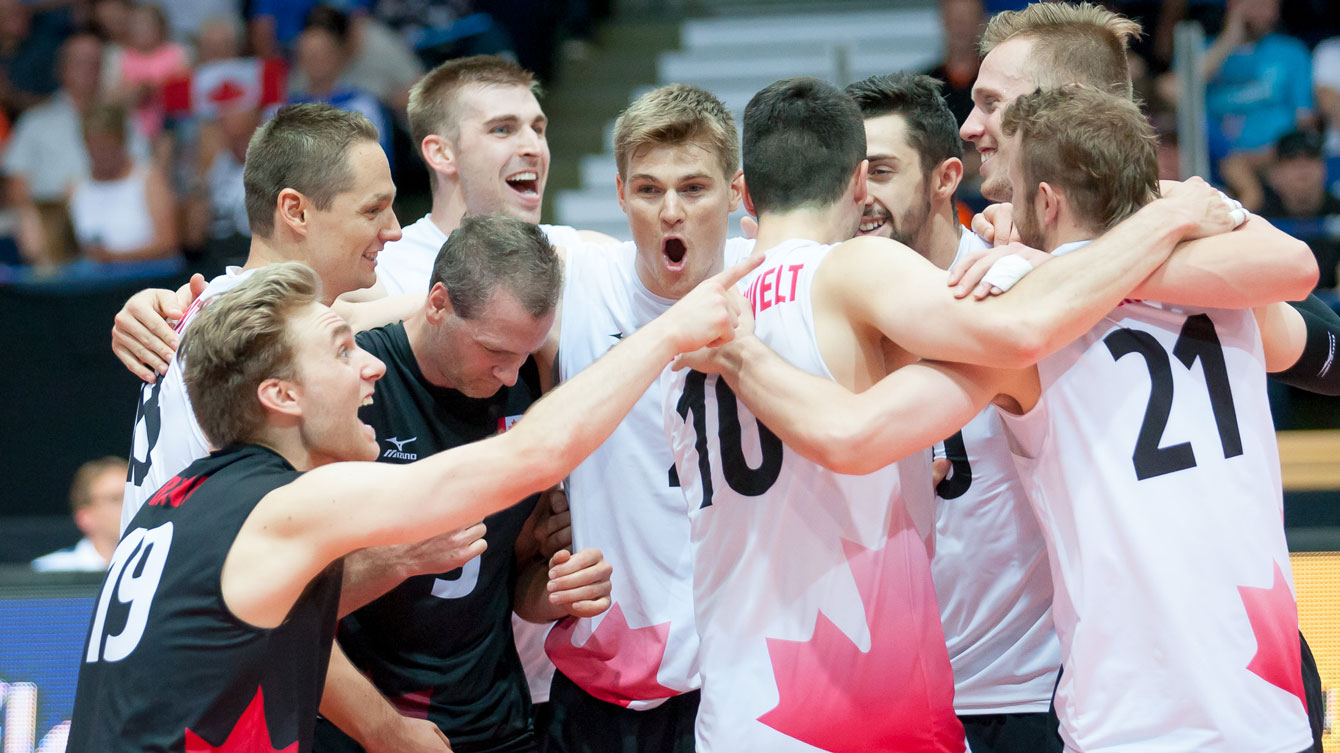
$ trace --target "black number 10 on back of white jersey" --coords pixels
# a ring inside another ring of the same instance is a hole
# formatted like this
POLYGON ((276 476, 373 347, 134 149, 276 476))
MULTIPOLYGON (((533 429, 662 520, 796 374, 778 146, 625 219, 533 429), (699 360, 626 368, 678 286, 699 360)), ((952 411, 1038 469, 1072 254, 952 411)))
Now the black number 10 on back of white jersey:
POLYGON ((758 468, 750 468, 745 460, 744 438, 740 429, 740 406, 736 394, 725 379, 716 376, 717 402, 717 442, 713 452, 708 437, 708 375, 690 371, 683 383, 683 394, 675 403, 679 417, 693 426, 694 452, 698 456, 698 477, 702 480, 702 505, 712 504, 712 458, 720 458, 721 476, 734 492, 746 497, 757 497, 772 488, 781 476, 783 445, 761 421, 758 425, 758 446, 762 461, 758 468), (689 415, 693 414, 690 421, 689 415))

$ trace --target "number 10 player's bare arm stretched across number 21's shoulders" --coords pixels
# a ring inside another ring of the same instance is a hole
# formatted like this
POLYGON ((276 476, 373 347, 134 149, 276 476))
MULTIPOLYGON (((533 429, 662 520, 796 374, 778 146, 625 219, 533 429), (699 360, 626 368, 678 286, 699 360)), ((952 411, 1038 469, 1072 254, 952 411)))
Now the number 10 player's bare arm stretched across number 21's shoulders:
MULTIPOLYGON (((1218 192, 1189 182, 1095 241, 1041 265, 1013 291, 954 297, 945 273, 888 241, 856 238, 835 249, 815 279, 816 296, 915 355, 1021 368, 1056 352, 1111 312, 1185 237, 1233 226, 1218 192)), ((817 305, 817 304, 816 304, 817 305)), ((817 316, 817 314, 816 314, 817 316)))

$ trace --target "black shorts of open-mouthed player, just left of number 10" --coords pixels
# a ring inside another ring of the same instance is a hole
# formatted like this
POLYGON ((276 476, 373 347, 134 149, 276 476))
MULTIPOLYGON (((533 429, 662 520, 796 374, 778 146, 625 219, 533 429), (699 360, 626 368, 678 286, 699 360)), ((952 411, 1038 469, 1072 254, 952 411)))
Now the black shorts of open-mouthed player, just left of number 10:
POLYGON ((595 698, 556 671, 548 706, 548 730, 539 730, 547 753, 693 753, 697 690, 634 711, 595 698))

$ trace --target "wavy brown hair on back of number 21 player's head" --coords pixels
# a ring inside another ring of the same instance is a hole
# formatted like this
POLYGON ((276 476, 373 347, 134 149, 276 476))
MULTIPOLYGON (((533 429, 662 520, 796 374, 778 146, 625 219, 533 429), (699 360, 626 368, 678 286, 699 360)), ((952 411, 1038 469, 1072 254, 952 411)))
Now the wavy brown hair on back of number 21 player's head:
POLYGON ((1022 204, 1037 184, 1065 192, 1076 218, 1104 230, 1159 192, 1158 137, 1139 106, 1087 86, 1038 90, 1005 110, 1001 129, 1020 134, 1022 204))

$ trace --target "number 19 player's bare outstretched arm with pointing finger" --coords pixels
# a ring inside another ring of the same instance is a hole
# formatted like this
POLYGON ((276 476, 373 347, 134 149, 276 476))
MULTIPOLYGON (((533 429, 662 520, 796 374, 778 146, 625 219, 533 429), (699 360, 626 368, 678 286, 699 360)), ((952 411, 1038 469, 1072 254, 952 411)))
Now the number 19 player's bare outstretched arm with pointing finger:
POLYGON ((729 340, 737 304, 728 293, 761 260, 705 280, 504 434, 407 465, 331 464, 275 489, 229 549, 225 603, 243 620, 276 626, 335 559, 460 528, 557 484, 604 442, 670 359, 729 340))

